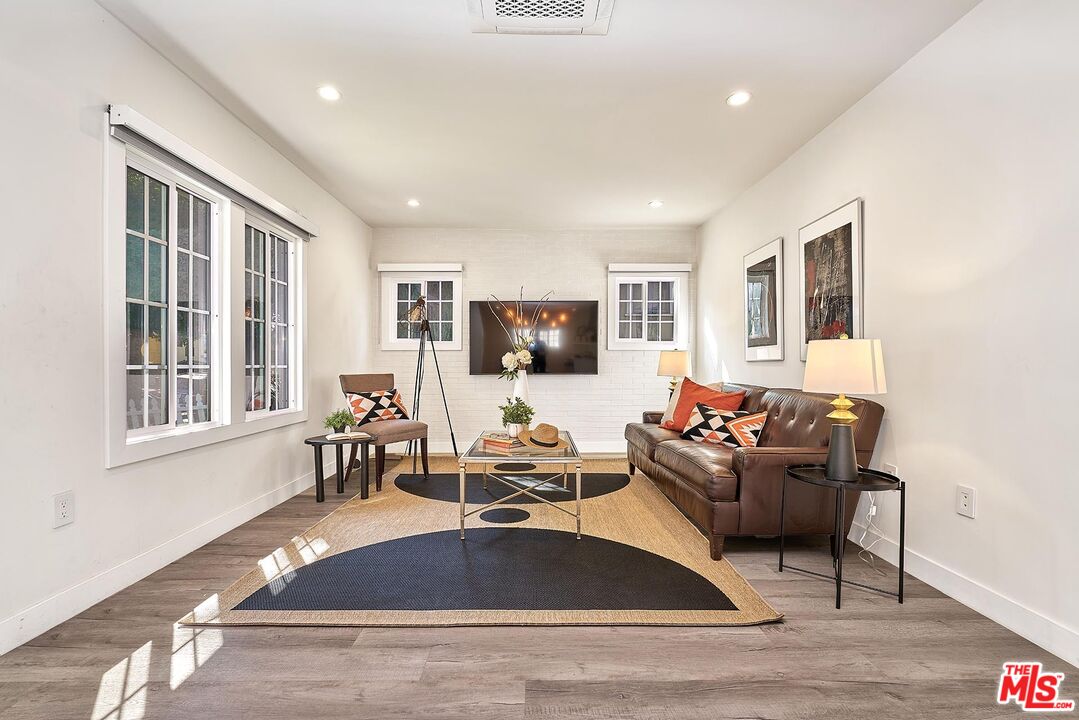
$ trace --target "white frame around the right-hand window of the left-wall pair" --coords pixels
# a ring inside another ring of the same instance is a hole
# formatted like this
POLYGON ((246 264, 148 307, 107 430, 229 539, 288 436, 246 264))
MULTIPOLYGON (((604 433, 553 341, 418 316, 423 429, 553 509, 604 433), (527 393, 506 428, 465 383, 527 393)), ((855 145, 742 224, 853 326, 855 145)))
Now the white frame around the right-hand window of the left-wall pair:
MULTIPOLYGON (((298 338, 300 337, 300 323, 298 322, 299 321, 299 302, 297 300, 297 296, 299 295, 299 293, 298 293, 299 285, 300 285, 300 282, 299 282, 299 280, 300 280, 299 269, 300 269, 300 257, 303 254, 303 242, 299 237, 297 237, 295 234, 292 234, 291 232, 289 232, 285 228, 281 227, 279 225, 275 223, 275 222, 272 222, 272 221, 270 221, 270 220, 268 220, 268 219, 265 219, 265 218, 263 218, 263 217, 261 217, 259 215, 256 215, 254 213, 246 213, 246 216, 244 218, 244 234, 241 236, 241 240, 238 241, 237 246, 236 246, 237 253, 240 253, 241 256, 242 256, 241 257, 241 264, 244 266, 245 270, 246 270, 246 263, 245 263, 245 259, 243 257, 244 249, 243 249, 242 245, 243 245, 243 243, 246 242, 247 226, 250 226, 250 227, 255 228, 256 230, 260 230, 260 231, 267 233, 267 241, 268 241, 267 244, 269 244, 269 237, 271 235, 275 235, 275 236, 277 236, 277 237, 279 237, 279 239, 282 239, 282 240, 284 240, 285 242, 288 243, 288 349, 289 349, 289 364, 288 364, 288 407, 285 407, 285 408, 282 408, 282 409, 278 409, 278 410, 271 410, 269 408, 263 408, 261 410, 248 410, 247 409, 247 394, 246 394, 246 390, 247 390, 247 358, 246 358, 245 355, 242 354, 240 356, 241 357, 240 365, 242 366, 242 369, 244 371, 244 419, 245 419, 245 421, 251 421, 251 420, 258 420, 260 418, 269 418, 269 417, 274 417, 274 416, 279 416, 279 415, 287 415, 287 413, 290 413, 290 412, 295 412, 299 408, 299 406, 301 406, 302 384, 303 383, 299 382, 299 380, 303 376, 302 376, 301 372, 298 371, 298 365, 299 365, 299 359, 298 358, 302 356, 302 353, 299 352, 299 344, 300 343, 298 342, 298 338)), ((267 279, 267 296, 265 297, 267 297, 268 300, 270 300, 269 287, 270 287, 270 285, 272 285, 272 282, 270 280, 270 256, 269 256, 269 254, 265 256, 264 263, 265 263, 264 271, 265 271, 265 279, 267 279)), ((244 294, 245 289, 246 288, 243 287, 243 286, 240 288, 242 297, 243 297, 243 294, 244 294)), ((240 310, 241 315, 243 315, 245 303, 246 303, 246 298, 244 298, 244 300, 240 303, 238 310, 240 310)), ((263 341, 264 341, 264 344, 265 344, 265 347, 263 348, 263 352, 265 353, 264 357, 267 359, 267 380, 265 381, 267 381, 267 390, 268 390, 268 392, 269 392, 269 388, 270 388, 270 377, 271 377, 272 371, 273 371, 273 365, 270 362, 272 359, 272 357, 273 357, 273 353, 271 352, 271 345, 272 345, 272 342, 273 342, 273 334, 270 331, 271 311, 272 311, 272 309, 273 309, 273 303, 272 302, 268 302, 267 303, 265 328, 263 329, 263 341)), ((245 332, 246 332, 246 329, 247 328, 245 327, 244 328, 245 332)), ((246 350, 246 345, 245 345, 245 350, 246 350)))

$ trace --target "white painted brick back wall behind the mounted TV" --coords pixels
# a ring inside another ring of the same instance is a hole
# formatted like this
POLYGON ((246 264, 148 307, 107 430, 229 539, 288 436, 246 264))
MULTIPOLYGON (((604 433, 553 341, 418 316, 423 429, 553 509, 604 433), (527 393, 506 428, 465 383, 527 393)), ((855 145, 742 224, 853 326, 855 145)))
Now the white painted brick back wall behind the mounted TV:
MULTIPOLYGON (((692 229, 625 230, 438 230, 375 229, 371 267, 379 262, 461 262, 464 300, 516 298, 524 286, 535 299, 554 291, 555 299, 599 300, 598 376, 529 376, 535 422, 570 430, 586 452, 625 452, 626 423, 643 410, 667 404, 667 378, 656 377, 657 351, 606 350, 607 263, 692 262, 696 237, 692 229)), ((691 305, 694 279, 691 274, 691 305)), ((372 288, 372 305, 377 289, 372 288)), ((502 424, 498 405, 511 383, 497 376, 468 375, 468 311, 465 304, 463 350, 438 352, 457 447, 464 451, 484 430, 502 424)), ((693 318, 691 316, 691 323, 693 318)), ((396 376, 411 405, 416 353, 378 351, 372 370, 396 376)), ((357 370, 360 368, 357 367, 357 370)), ((449 432, 438 392, 434 363, 427 358, 423 382, 422 420, 431 425, 432 449, 450 451, 449 432)), ((404 446, 402 446, 404 447, 404 446)))

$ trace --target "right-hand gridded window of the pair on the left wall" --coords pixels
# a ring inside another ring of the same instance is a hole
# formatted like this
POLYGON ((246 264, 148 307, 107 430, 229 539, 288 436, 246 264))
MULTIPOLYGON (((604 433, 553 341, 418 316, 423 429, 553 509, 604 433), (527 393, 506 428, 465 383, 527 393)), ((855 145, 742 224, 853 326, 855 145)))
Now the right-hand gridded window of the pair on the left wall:
POLYGON ((296 404, 297 240, 248 218, 244 226, 244 392, 248 413, 296 404))

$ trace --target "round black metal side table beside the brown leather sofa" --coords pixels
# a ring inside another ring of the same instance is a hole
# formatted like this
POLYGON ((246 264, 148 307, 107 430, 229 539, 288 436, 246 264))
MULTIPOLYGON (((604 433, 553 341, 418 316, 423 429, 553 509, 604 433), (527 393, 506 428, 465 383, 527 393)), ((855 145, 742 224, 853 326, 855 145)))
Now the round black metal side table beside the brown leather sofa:
POLYGON ((787 467, 787 472, 783 474, 783 487, 779 495, 779 572, 782 572, 783 569, 787 568, 790 570, 797 570, 798 572, 804 572, 809 575, 824 578, 825 580, 834 580, 836 610, 839 609, 839 600, 843 594, 844 583, 858 587, 864 587, 865 589, 874 590, 876 593, 883 593, 884 595, 890 595, 899 598, 900 603, 903 602, 903 556, 906 554, 905 531, 906 483, 899 479, 894 475, 882 473, 878 470, 859 467, 858 479, 852 483, 844 483, 842 480, 830 480, 824 477, 824 465, 789 465, 787 467), (791 478, 802 483, 808 483, 809 485, 818 485, 820 487, 835 489, 835 534, 833 535, 834 541, 832 543, 832 560, 833 567, 835 568, 834 578, 825 575, 822 572, 815 572, 812 570, 806 570, 805 568, 795 568, 792 565, 783 565, 783 520, 787 516, 787 480, 791 478), (899 593, 892 593, 891 590, 843 579, 843 551, 847 541, 843 527, 843 520, 846 517, 846 494, 847 492, 879 492, 885 490, 899 491, 899 593))

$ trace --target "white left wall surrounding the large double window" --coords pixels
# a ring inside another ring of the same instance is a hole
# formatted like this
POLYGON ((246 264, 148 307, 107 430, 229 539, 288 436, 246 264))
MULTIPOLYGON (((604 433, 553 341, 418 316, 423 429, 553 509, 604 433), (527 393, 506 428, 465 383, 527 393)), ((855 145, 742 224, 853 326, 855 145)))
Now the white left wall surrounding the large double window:
MULTIPOLYGON (((90 0, 0 5, 0 652, 311 483, 337 373, 364 365, 370 230, 90 0), (106 471, 105 106, 127 104, 313 219, 312 419, 106 471), (49 431, 63 431, 47 437, 49 431), (76 521, 52 528, 52 495, 76 521)), ((317 101, 317 98, 312 98, 317 101)))

